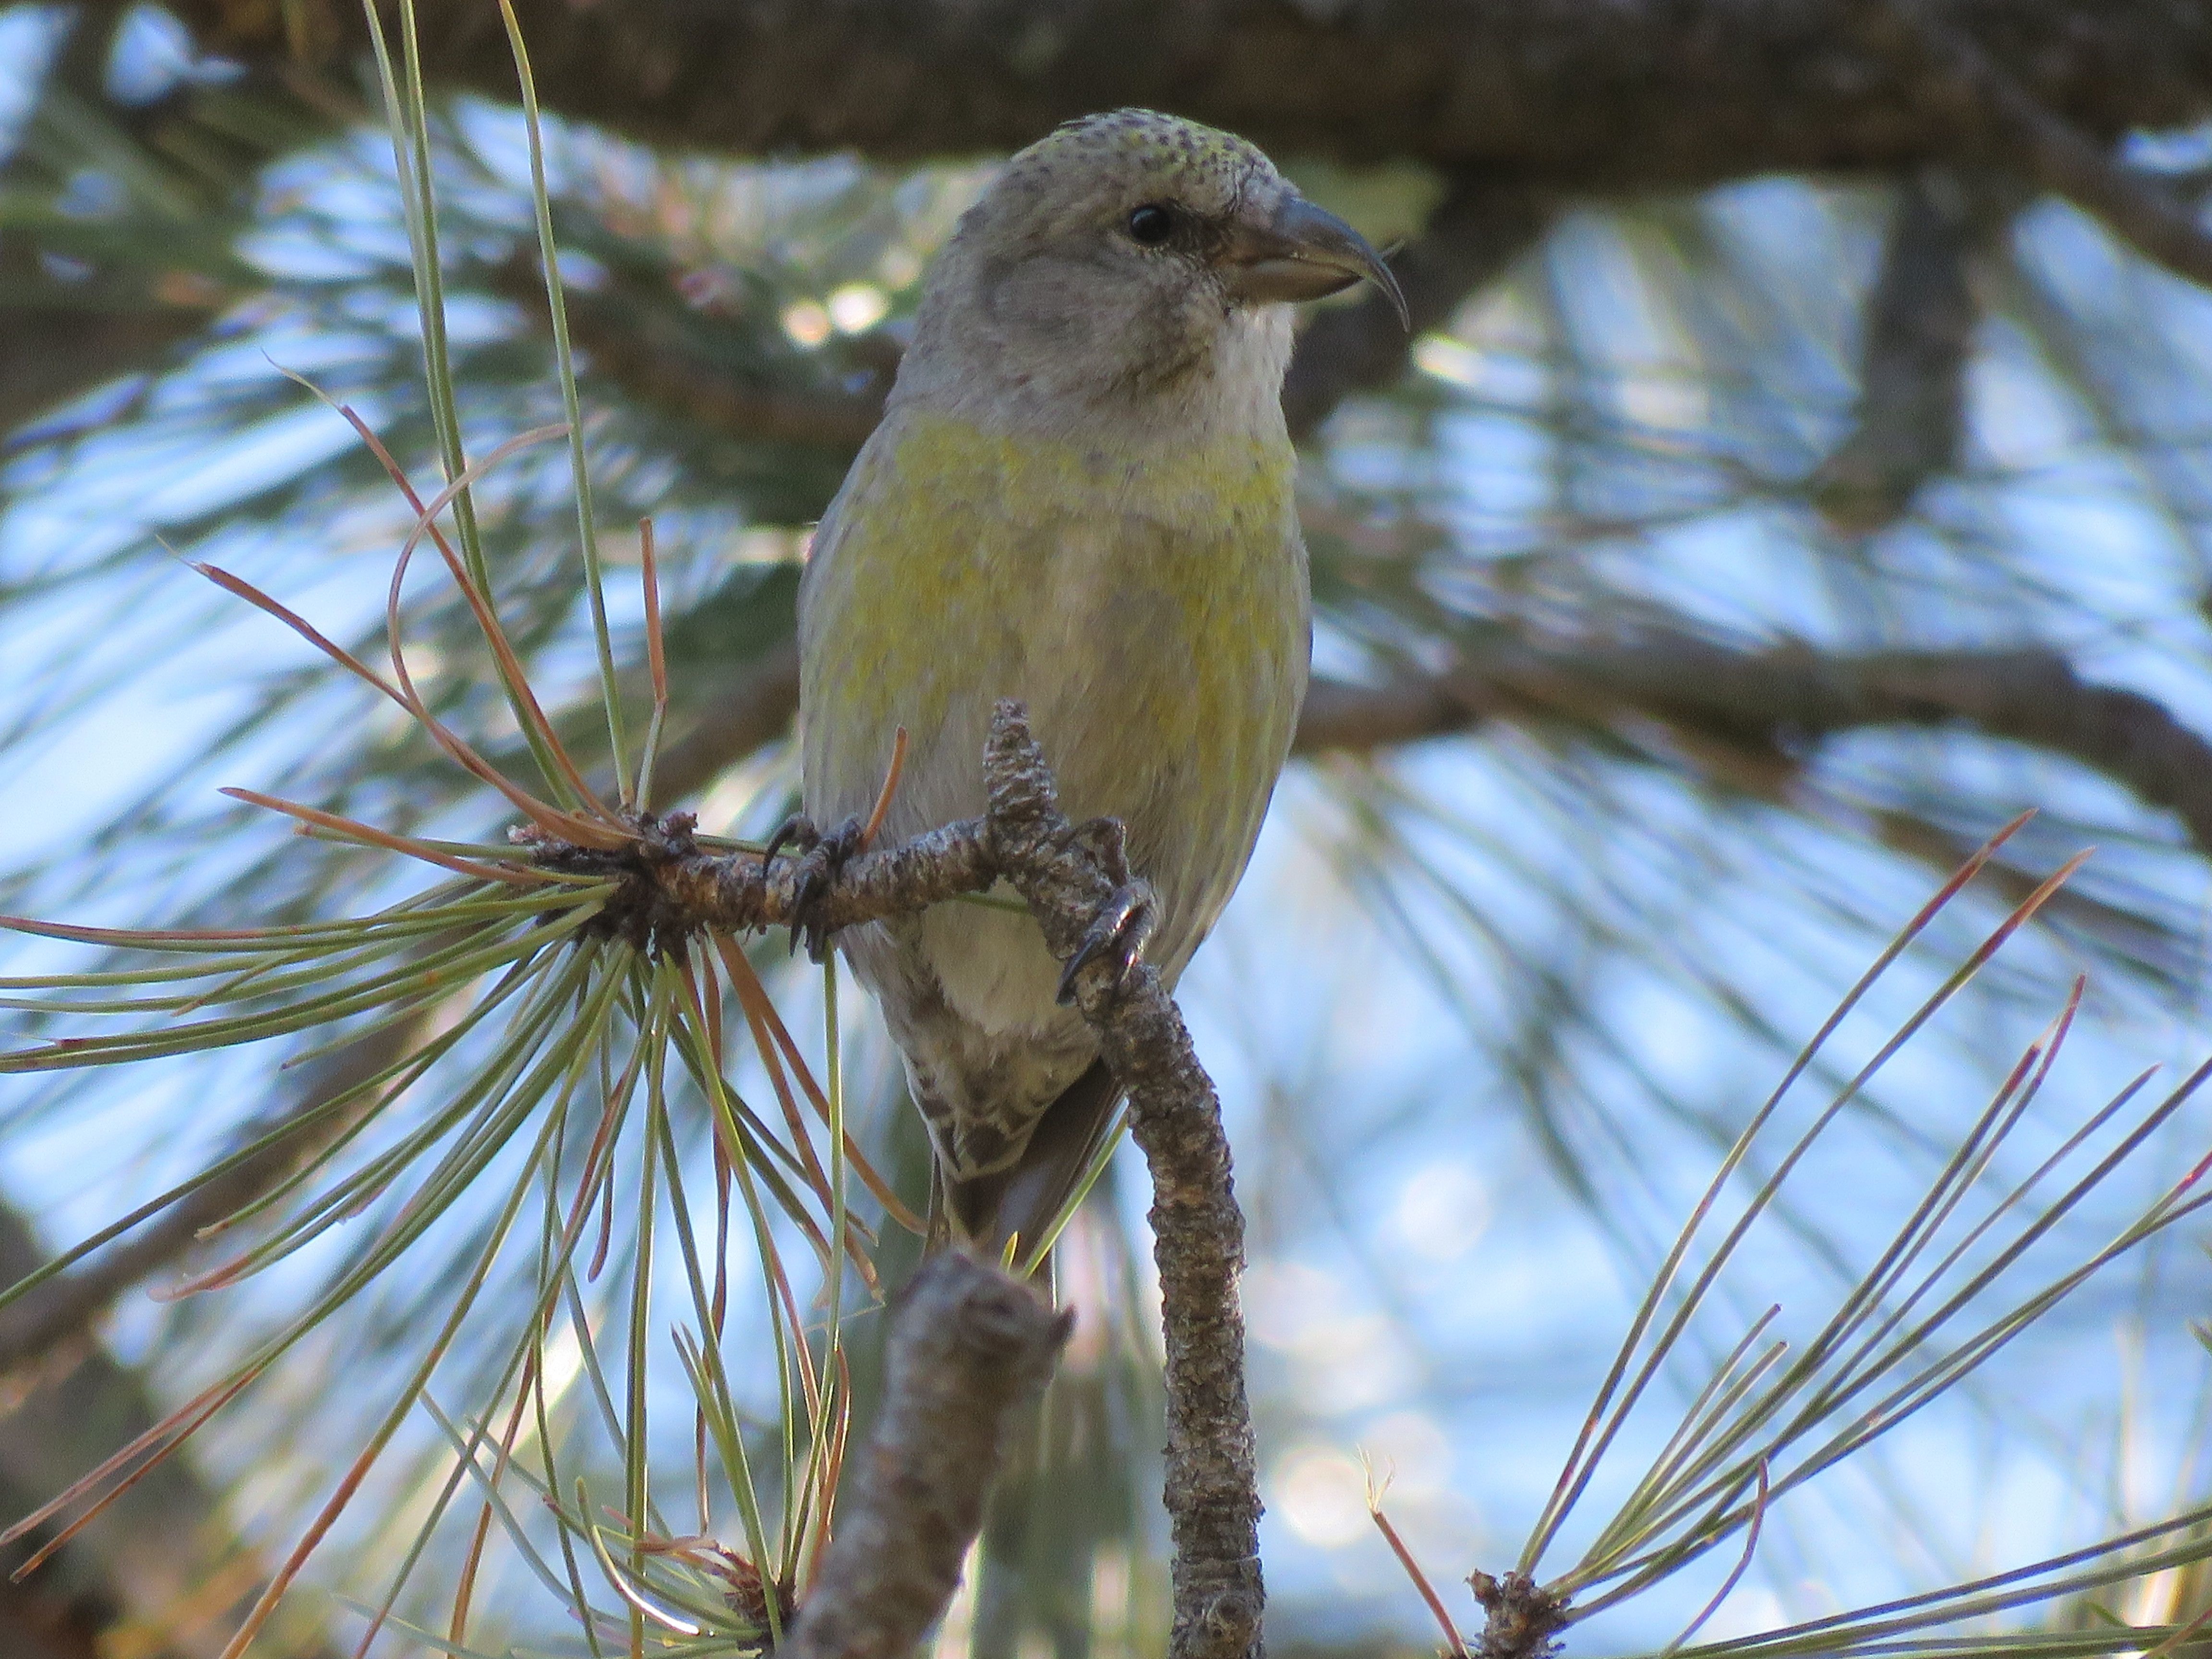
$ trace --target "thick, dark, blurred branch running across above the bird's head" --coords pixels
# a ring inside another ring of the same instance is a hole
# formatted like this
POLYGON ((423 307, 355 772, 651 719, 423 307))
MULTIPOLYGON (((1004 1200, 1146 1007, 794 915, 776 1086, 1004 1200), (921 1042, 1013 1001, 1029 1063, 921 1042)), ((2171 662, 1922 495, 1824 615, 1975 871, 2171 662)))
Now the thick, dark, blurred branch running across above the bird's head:
MULTIPOLYGON (((104 0, 108 9, 122 0, 104 0)), ((719 150, 1011 150, 1152 104, 1285 155, 1495 166, 1575 188, 1944 159, 1955 133, 1847 27, 1854 0, 518 0, 562 115, 719 150)), ((365 44, 358 0, 173 0, 274 77, 365 44)), ((389 4, 380 7, 389 15, 389 4)), ((1942 0, 2068 126, 2201 119, 2212 15, 2170 0, 1942 0)), ((429 73, 500 102, 493 0, 420 7, 429 73)))

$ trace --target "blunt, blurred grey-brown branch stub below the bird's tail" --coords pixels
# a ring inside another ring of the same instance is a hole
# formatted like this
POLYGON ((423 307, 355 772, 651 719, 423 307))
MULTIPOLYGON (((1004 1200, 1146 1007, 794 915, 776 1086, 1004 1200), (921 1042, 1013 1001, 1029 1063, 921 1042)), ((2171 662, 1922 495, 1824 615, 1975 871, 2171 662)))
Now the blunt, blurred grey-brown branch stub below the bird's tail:
POLYGON ((960 1584, 1015 1411, 1068 1329, 1073 1314, 995 1267, 958 1252, 922 1263, 891 1316, 883 1413, 785 1659, 916 1650, 960 1584))

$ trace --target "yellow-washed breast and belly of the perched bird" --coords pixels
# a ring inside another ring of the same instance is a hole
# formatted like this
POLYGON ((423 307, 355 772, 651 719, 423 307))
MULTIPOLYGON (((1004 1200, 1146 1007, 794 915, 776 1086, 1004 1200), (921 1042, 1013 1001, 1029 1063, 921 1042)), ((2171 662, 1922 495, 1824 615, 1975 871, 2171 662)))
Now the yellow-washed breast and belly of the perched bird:
POLYGON ((1203 929, 1305 690, 1294 467, 1279 431, 1071 445, 894 414, 807 573, 810 810, 865 810, 905 726, 900 825, 980 812, 991 703, 1020 697, 1066 812, 1124 818, 1203 929))

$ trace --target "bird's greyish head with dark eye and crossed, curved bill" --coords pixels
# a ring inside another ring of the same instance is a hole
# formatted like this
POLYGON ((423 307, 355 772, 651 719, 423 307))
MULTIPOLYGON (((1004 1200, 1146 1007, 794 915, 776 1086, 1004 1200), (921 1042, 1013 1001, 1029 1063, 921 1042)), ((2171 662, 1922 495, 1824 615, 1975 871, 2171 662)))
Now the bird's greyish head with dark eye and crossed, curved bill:
MULTIPOLYGON (((1144 403, 1239 385, 1272 405, 1287 301, 1371 281, 1380 254, 1230 133, 1152 111, 1068 122, 960 219, 922 296, 916 380, 967 400, 1144 403), (1243 383, 1263 383, 1250 385, 1243 383)), ((920 389, 920 387, 916 387, 920 389)))

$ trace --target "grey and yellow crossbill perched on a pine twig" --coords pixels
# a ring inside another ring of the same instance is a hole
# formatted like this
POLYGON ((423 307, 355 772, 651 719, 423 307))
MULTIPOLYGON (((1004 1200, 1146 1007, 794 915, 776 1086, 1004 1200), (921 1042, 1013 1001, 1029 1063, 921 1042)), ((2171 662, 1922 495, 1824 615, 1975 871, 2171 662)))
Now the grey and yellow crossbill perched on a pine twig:
MULTIPOLYGON (((938 254, 883 425, 814 535, 810 825, 874 805, 900 726, 880 836, 980 814, 991 706, 1018 697, 1068 816, 1126 827, 1146 960, 1172 987, 1243 876, 1305 697, 1287 301, 1363 279, 1402 319, 1358 232, 1197 122, 1093 115, 1015 155, 938 254)), ((905 1053, 940 1219, 1035 1243, 1117 1104, 1035 922, 938 905, 838 945, 905 1053)))

